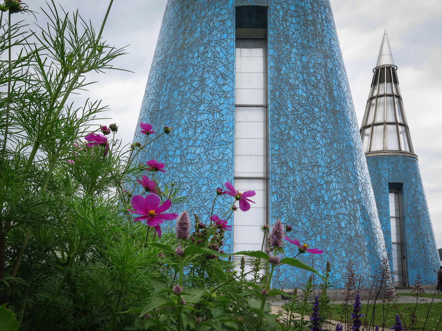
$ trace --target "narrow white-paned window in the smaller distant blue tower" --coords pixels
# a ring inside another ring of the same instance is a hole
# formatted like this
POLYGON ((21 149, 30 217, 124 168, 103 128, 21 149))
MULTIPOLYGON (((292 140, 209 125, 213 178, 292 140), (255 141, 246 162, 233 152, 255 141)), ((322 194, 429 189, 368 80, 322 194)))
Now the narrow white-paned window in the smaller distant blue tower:
POLYGON ((404 270, 402 267, 402 234, 400 227, 399 192, 390 190, 389 200, 394 281, 404 282, 404 270))

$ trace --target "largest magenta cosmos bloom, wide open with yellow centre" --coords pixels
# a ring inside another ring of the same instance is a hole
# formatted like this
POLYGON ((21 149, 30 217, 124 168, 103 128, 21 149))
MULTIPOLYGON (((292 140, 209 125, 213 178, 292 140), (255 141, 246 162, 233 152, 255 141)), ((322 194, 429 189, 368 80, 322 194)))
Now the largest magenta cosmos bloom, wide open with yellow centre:
POLYGON ((164 201, 160 206, 160 198, 154 194, 149 194, 143 198, 142 196, 133 196, 130 204, 134 210, 128 209, 133 214, 141 215, 135 218, 135 222, 145 220, 148 226, 153 226, 158 233, 158 237, 161 237, 160 224, 164 220, 172 220, 178 217, 178 214, 162 214, 167 211, 172 203, 170 200, 164 201))

